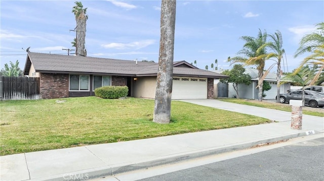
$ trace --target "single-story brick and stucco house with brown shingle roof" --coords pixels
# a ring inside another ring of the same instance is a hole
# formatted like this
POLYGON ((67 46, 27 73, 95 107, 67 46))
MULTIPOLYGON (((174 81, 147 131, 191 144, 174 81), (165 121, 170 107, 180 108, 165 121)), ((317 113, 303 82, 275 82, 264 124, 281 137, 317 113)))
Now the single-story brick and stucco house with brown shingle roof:
MULTIPOLYGON (((172 99, 212 99, 226 76, 181 61, 173 65, 172 99)), ((93 96, 101 86, 128 86, 128 96, 154 98, 158 64, 28 52, 24 75, 39 77, 40 98, 93 96)))

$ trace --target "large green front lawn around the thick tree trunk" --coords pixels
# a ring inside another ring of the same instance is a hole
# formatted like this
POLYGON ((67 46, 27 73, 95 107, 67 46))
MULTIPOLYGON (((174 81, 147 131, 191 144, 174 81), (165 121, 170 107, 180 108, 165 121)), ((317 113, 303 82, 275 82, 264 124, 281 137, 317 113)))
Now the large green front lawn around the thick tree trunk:
POLYGON ((172 101, 171 123, 152 122, 154 100, 97 97, 2 101, 1 155, 268 123, 270 120, 172 101))

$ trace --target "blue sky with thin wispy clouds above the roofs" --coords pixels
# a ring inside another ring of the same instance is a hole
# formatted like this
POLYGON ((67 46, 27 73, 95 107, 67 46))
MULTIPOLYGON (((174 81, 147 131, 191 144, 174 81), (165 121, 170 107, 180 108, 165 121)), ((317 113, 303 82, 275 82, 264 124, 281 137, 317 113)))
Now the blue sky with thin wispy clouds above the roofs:
MULTIPOLYGON (((75 37, 74 1, 0 2, 1 68, 17 59, 23 69, 26 49, 67 54, 75 37)), ((82 1, 88 8, 88 56, 158 62, 161 1, 82 1)), ((229 69, 227 57, 236 56, 244 41, 259 29, 282 33, 287 55, 285 70, 295 69, 294 58, 305 34, 324 21, 324 1, 177 1, 174 61, 197 61, 205 69, 218 59, 229 69), (287 69, 288 68, 288 69, 287 69)), ((73 53, 73 52, 72 52, 73 53)), ((268 61, 266 67, 273 64, 268 61)), ((275 71, 273 68, 272 72, 275 71)))

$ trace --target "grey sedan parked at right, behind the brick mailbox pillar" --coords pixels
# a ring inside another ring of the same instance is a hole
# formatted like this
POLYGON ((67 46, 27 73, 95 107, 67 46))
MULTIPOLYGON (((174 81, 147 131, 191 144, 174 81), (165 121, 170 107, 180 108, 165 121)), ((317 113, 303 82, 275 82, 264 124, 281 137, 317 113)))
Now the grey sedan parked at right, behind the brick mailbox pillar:
MULTIPOLYGON (((302 90, 289 90, 286 94, 280 94, 279 102, 286 103, 290 100, 302 100, 302 90)), ((305 91, 305 104, 310 107, 323 107, 324 95, 315 91, 305 91)))

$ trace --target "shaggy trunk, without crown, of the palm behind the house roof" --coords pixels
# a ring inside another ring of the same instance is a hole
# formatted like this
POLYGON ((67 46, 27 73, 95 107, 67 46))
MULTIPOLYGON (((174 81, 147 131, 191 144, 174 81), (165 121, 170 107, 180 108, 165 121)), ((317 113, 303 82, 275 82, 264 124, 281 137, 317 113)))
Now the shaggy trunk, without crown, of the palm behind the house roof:
POLYGON ((87 56, 86 50, 86 26, 87 19, 81 16, 76 20, 76 47, 75 53, 80 56, 87 56))

